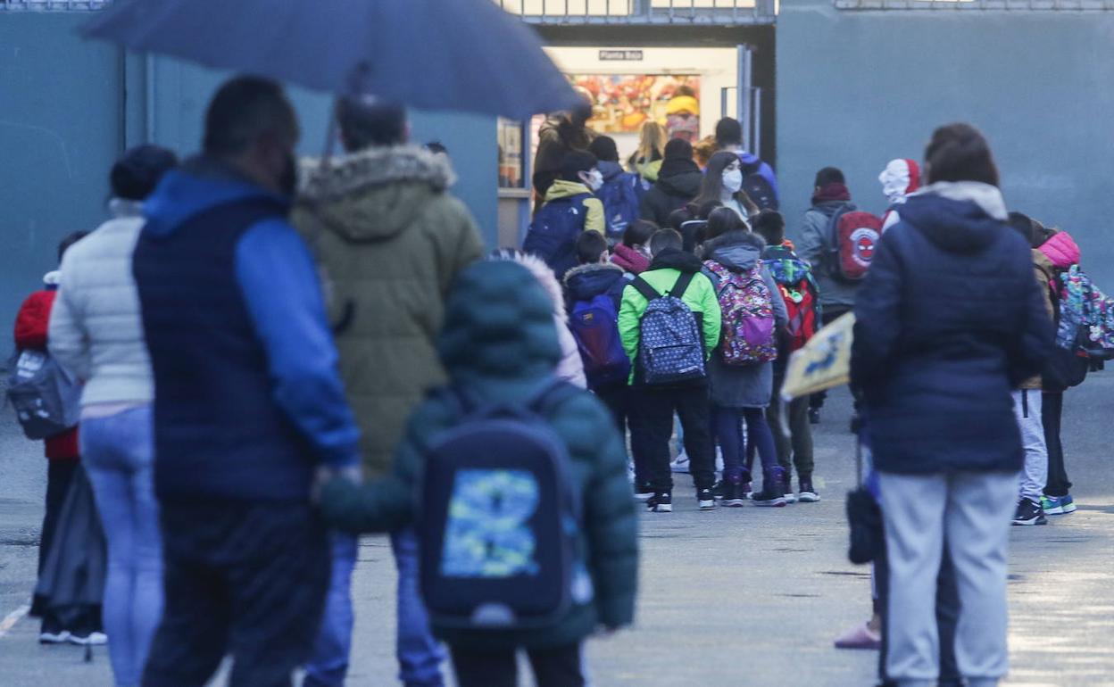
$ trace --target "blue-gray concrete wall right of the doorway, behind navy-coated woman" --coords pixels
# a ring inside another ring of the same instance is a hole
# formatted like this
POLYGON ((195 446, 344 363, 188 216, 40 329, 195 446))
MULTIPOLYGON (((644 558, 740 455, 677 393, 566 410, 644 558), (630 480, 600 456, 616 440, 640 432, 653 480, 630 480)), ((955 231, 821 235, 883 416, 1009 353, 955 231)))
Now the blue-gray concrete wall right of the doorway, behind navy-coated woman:
POLYGON ((1114 292, 1114 12, 844 11, 783 0, 778 171, 793 234, 834 165, 880 212, 878 173, 920 159, 932 129, 979 127, 1010 209, 1068 229, 1114 292))

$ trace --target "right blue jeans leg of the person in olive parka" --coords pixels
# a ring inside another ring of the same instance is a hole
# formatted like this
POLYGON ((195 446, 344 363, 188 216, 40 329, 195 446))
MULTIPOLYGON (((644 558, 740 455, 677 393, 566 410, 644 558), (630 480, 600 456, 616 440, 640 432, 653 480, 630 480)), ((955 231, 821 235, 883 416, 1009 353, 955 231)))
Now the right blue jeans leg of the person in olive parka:
POLYGON ((399 679, 405 687, 443 687, 444 649, 429 629, 429 616, 418 578, 418 538, 413 530, 391 534, 399 570, 398 644, 399 679))

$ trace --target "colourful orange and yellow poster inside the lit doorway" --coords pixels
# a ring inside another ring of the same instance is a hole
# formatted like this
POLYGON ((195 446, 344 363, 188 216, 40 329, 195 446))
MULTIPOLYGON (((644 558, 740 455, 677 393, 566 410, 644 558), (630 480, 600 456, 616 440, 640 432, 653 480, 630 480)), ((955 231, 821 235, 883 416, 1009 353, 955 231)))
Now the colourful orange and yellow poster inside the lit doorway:
POLYGON ((600 134, 637 134, 647 120, 671 137, 700 137, 700 77, 694 75, 569 75, 592 97, 592 128, 600 134))

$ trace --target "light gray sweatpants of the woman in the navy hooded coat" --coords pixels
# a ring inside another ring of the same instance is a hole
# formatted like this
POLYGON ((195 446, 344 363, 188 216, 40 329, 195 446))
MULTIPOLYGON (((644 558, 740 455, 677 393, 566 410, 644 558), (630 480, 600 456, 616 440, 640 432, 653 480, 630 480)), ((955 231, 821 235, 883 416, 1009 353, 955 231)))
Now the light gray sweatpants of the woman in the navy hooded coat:
POLYGON ((887 673, 901 687, 935 687, 939 678, 936 588, 946 534, 959 590, 956 664, 970 687, 994 687, 1008 669, 1006 553, 1017 474, 879 477, 890 565, 887 673))

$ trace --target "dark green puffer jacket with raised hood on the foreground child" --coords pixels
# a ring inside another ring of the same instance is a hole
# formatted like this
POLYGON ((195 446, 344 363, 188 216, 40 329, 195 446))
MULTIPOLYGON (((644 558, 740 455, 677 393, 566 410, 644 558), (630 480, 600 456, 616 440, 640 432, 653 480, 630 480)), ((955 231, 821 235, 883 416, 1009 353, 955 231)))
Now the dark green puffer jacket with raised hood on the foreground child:
MULTIPOLYGON (((551 383, 560 360, 553 302, 537 279, 512 262, 480 263, 461 276, 449 298, 449 316, 438 349, 453 384, 482 402, 525 402, 551 383)), ((385 531, 410 523, 423 469, 423 446, 452 428, 456 403, 431 395, 410 419, 392 474, 355 487, 328 484, 321 507, 334 527, 352 532, 385 531)), ((579 641, 604 625, 634 619, 637 582, 637 520, 626 480, 623 441, 607 410, 588 392, 571 392, 548 412, 573 459, 584 521, 580 549, 595 599, 574 606, 554 627, 508 632, 437 627, 450 645, 480 648, 555 647, 579 641)))

